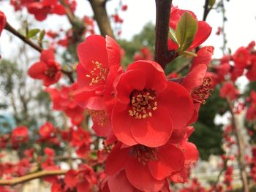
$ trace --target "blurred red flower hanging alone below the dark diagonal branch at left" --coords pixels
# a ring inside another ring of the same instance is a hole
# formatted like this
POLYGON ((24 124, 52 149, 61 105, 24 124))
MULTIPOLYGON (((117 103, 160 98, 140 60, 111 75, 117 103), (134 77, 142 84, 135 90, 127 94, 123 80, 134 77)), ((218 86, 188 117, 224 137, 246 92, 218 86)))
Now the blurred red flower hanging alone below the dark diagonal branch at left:
POLYGON ((42 50, 40 61, 29 68, 29 76, 44 82, 45 86, 56 83, 61 78, 61 66, 54 61, 52 49, 42 50))

